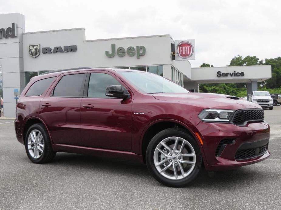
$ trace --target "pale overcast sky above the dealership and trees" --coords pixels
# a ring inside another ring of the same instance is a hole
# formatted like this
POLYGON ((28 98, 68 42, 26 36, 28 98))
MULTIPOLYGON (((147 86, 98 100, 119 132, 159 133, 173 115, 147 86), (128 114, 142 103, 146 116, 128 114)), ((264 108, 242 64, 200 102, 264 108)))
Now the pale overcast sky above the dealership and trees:
POLYGON ((0 14, 25 15, 26 32, 85 28, 86 40, 158 34, 195 39, 192 67, 225 66, 238 54, 281 56, 280 8, 278 0, 0 2, 0 14))

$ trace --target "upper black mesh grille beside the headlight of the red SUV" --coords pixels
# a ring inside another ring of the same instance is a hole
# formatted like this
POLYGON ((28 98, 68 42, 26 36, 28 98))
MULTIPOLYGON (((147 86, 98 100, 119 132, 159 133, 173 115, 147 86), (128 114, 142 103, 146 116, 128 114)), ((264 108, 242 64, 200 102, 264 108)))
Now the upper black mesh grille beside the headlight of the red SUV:
POLYGON ((263 110, 238 110, 232 122, 236 125, 244 125, 245 122, 251 120, 264 120, 263 110))

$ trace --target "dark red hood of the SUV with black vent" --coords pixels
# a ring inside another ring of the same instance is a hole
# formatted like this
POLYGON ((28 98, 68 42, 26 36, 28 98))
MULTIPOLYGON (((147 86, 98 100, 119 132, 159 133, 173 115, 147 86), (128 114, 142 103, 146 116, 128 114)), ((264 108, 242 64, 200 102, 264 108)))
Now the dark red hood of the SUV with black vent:
POLYGON ((153 94, 158 100, 182 102, 203 109, 261 109, 258 104, 235 96, 212 93, 163 93, 153 94))

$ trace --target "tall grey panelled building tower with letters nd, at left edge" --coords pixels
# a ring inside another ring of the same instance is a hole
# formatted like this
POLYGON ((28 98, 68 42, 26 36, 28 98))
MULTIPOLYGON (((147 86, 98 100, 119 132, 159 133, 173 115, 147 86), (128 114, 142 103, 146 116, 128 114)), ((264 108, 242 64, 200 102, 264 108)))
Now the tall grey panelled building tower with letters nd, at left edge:
MULTIPOLYGON (((4 116, 15 117, 14 90, 19 94, 24 89, 23 71, 23 41, 22 33, 25 31, 24 16, 19 13, 0 15, 0 28, 11 30, 15 24, 15 34, 0 38, 0 62, 3 77, 4 116)), ((13 32, 12 32, 13 33, 13 32)), ((3 33, 2 33, 3 34, 3 33)))

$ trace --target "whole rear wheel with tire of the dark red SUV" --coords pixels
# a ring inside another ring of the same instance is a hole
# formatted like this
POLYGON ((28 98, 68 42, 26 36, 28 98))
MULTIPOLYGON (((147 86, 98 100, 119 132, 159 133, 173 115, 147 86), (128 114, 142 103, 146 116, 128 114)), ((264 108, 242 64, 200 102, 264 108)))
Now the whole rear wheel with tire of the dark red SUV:
POLYGON ((56 155, 56 152, 52 149, 46 128, 39 123, 30 126, 28 129, 25 148, 28 158, 34 163, 50 162, 56 155))

